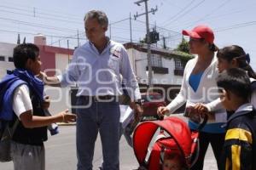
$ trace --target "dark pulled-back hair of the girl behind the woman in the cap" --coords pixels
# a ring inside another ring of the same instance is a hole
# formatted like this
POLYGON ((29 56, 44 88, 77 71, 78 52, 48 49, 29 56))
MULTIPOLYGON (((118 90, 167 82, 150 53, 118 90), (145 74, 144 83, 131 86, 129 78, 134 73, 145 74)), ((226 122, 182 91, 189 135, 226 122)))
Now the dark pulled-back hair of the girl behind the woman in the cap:
POLYGON ((217 57, 225 59, 230 62, 232 59, 236 59, 238 67, 247 71, 249 77, 256 79, 256 73, 253 68, 249 65, 250 56, 246 54, 243 48, 238 45, 231 45, 218 50, 217 57))

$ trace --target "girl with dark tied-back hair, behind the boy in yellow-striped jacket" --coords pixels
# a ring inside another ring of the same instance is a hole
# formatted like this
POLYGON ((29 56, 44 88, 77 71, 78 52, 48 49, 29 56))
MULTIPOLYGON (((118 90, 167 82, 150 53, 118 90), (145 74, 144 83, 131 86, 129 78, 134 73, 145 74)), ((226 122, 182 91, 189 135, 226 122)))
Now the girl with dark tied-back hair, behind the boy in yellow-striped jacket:
MULTIPOLYGON (((218 50, 218 71, 222 72, 226 69, 239 67, 247 71, 248 76, 253 84, 256 86, 256 74, 249 65, 250 56, 246 54, 243 48, 237 45, 231 45, 218 50)), ((254 89, 251 95, 251 104, 256 108, 256 90, 254 89)))

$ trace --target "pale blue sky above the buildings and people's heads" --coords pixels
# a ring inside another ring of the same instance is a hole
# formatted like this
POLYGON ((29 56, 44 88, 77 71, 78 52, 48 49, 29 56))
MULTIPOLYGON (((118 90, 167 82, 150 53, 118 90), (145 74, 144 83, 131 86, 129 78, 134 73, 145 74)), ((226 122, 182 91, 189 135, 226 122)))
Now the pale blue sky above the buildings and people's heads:
MULTIPOLYGON (((79 30, 80 43, 84 37, 84 14, 90 9, 101 9, 108 14, 110 23, 124 20, 144 6, 133 0, 0 0, 0 42, 16 42, 17 32, 21 39, 32 42, 33 34, 47 35, 47 43, 67 47, 77 45, 74 39, 79 30), (35 9, 34 9, 35 8, 35 9)), ((215 43, 219 48, 237 44, 251 55, 256 70, 256 1, 254 0, 149 0, 148 8, 158 6, 155 14, 149 14, 152 25, 159 26, 161 37, 167 37, 170 47, 180 41, 183 29, 192 29, 198 24, 211 26, 215 31, 215 43)), ((132 39, 139 41, 145 35, 144 16, 132 20, 132 39)), ((151 26, 152 27, 152 26, 151 26)), ((119 42, 130 40, 129 20, 111 26, 111 37, 119 42)), ((108 31, 108 35, 110 35, 108 31)))

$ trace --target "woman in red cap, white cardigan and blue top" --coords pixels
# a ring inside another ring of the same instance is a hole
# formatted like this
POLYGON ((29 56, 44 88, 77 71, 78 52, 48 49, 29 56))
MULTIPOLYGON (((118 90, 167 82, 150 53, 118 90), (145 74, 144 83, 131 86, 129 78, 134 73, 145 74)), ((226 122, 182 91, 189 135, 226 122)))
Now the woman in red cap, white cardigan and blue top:
MULTIPOLYGON (((217 48, 213 43, 214 34, 208 26, 196 26, 192 31, 183 30, 184 36, 189 36, 189 52, 195 54, 185 66, 183 83, 177 97, 166 107, 159 107, 160 116, 173 113, 184 103, 187 111, 192 111, 195 117, 207 114, 211 117, 200 133, 200 155, 191 169, 203 169, 208 145, 212 145, 214 156, 219 162, 224 144, 224 122, 226 112, 218 96, 215 78, 218 76, 217 48)), ((189 127, 196 130, 198 119, 189 119, 189 127)), ((218 163, 219 166, 219 163, 218 163)))

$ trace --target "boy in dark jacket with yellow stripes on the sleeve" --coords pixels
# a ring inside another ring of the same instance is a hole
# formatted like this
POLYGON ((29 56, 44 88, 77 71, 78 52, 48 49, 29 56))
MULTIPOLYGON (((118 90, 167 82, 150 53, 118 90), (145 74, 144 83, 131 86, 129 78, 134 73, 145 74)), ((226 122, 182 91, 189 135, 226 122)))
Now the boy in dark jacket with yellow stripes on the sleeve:
POLYGON ((256 169, 256 111, 249 103, 251 82, 239 68, 223 71, 217 78, 222 104, 230 115, 224 142, 222 169, 256 169))

